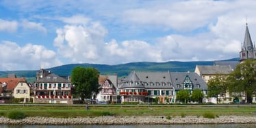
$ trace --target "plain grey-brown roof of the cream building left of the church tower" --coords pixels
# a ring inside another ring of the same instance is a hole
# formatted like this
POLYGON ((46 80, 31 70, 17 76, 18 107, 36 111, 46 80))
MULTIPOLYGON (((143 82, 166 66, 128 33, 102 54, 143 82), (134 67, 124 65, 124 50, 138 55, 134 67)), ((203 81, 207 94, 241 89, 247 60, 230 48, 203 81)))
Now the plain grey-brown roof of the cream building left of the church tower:
POLYGON ((197 66, 197 68, 199 68, 201 75, 216 75, 216 74, 227 75, 232 71, 232 68, 229 65, 197 66))

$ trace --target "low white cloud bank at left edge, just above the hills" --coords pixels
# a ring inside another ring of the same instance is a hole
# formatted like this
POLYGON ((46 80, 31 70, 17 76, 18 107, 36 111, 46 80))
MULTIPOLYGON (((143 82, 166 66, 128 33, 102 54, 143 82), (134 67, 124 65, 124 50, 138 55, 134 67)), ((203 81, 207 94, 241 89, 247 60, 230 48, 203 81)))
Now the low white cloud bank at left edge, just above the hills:
POLYGON ((3 41, 0 43, 0 70, 35 70, 50 68, 62 64, 54 51, 47 50, 41 45, 26 44, 19 46, 16 42, 3 41))

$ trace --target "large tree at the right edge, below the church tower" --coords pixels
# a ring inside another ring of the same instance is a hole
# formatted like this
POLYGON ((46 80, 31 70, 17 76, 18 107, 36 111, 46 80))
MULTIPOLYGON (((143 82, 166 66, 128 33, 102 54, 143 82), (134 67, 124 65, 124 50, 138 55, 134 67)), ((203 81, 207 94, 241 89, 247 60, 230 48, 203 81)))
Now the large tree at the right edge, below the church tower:
POLYGON ((243 94, 247 103, 252 103, 256 92, 256 60, 244 60, 227 78, 230 94, 243 94))

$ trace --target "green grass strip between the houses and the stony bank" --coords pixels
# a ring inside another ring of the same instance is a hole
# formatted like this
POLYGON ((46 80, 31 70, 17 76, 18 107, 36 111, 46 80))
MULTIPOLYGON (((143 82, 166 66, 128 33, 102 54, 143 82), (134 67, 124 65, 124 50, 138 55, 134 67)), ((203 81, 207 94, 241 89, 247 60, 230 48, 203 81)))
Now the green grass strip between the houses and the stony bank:
POLYGON ((212 113, 216 116, 255 116, 256 107, 204 107, 204 106, 127 106, 127 105, 98 105, 89 106, 29 106, 29 105, 0 105, 0 116, 6 116, 14 110, 24 112, 26 116, 35 117, 94 117, 94 116, 202 116, 212 113))

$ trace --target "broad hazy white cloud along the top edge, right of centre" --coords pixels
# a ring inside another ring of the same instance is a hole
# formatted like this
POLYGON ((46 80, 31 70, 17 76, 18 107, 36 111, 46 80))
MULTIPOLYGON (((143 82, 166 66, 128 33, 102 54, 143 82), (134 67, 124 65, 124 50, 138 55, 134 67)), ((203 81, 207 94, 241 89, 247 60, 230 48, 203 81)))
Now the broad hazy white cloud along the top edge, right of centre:
POLYGON ((192 31, 208 25, 229 7, 229 3, 225 1, 163 2, 146 8, 126 10, 122 18, 125 23, 192 31))

